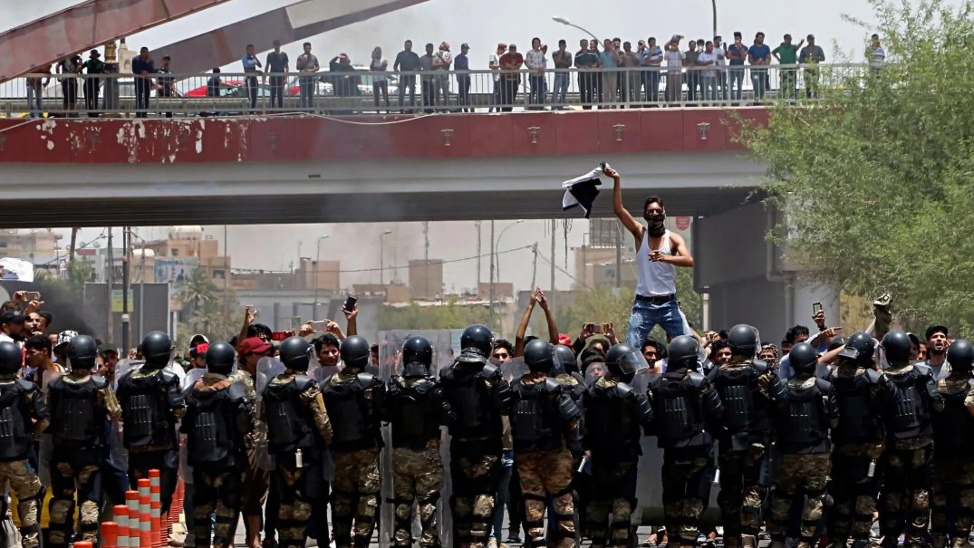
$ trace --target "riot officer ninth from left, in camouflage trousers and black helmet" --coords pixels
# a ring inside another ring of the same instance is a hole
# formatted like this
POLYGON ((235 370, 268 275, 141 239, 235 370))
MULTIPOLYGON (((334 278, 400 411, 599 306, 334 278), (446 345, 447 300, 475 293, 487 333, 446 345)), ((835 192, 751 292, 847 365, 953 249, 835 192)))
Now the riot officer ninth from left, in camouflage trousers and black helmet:
POLYGON ((581 458, 581 408, 572 398, 578 381, 565 376, 567 384, 549 377, 554 367, 554 348, 541 339, 524 347, 529 374, 510 386, 510 431, 514 465, 524 496, 524 527, 527 546, 542 547, 544 502, 552 498, 557 548, 575 545, 575 500, 572 496, 573 454, 581 458))

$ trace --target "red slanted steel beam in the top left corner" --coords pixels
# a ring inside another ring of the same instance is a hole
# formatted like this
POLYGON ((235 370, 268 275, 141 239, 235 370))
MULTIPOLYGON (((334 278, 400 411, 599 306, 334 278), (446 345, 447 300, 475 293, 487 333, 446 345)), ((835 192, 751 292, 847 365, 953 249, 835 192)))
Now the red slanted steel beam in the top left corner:
POLYGON ((0 82, 228 1, 87 0, 0 33, 0 82))

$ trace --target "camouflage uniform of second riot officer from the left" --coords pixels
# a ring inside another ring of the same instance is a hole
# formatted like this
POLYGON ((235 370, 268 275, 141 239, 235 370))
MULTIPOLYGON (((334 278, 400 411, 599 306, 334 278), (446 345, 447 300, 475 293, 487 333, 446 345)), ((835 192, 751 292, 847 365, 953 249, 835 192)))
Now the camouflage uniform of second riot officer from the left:
MULTIPOLYGON (((100 377, 96 379, 100 384, 104 384, 97 389, 94 396, 95 406, 101 413, 95 415, 92 420, 100 427, 103 426, 106 417, 119 420, 122 416, 122 407, 115 398, 111 385, 100 377)), ((89 371, 75 370, 58 378, 56 383, 57 386, 62 384, 77 386, 92 380, 93 376, 89 371)), ((56 389, 52 387, 47 398, 49 409, 55 412, 52 393, 56 389)), ((59 430, 58 425, 53 423, 52 430, 55 429, 59 430)), ((67 546, 71 541, 76 497, 81 504, 79 511, 81 538, 93 544, 97 543, 98 516, 101 506, 101 465, 108 456, 108 446, 105 443, 103 430, 96 429, 92 434, 94 438, 91 440, 92 443, 84 445, 63 444, 56 436, 51 458, 52 497, 48 506, 51 522, 47 543, 52 546, 67 546)))

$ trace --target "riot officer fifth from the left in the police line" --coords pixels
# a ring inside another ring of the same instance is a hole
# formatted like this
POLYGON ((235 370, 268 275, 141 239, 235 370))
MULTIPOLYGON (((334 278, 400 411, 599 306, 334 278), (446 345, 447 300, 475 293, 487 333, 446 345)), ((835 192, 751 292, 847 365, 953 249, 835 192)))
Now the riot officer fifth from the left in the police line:
POLYGON ((280 500, 277 523, 282 548, 305 545, 312 504, 323 488, 321 452, 332 438, 321 391, 315 380, 306 375, 312 348, 301 337, 281 342, 284 372, 272 379, 261 394, 267 449, 275 460, 271 485, 277 487, 280 500))

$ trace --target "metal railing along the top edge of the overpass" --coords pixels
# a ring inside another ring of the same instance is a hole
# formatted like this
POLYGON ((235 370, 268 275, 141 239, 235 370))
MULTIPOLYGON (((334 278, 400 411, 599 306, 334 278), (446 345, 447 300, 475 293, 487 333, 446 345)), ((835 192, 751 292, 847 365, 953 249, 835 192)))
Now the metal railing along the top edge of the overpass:
POLYGON ((35 74, 0 84, 0 117, 456 113, 736 106, 861 86, 869 64, 738 65, 311 75, 35 74), (280 97, 280 98, 279 98, 280 97))

